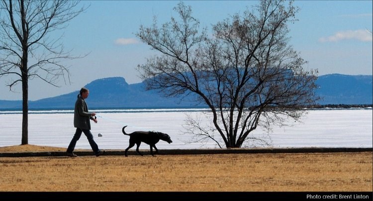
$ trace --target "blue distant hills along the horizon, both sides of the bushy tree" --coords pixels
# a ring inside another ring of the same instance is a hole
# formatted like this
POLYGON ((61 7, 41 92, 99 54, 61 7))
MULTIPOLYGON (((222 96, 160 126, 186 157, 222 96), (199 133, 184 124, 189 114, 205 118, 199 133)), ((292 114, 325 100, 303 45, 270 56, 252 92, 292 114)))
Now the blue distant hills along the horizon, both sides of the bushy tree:
MULTIPOLYGON (((316 95, 323 104, 373 104, 371 75, 330 74, 319 76, 316 95)), ((87 99, 90 108, 177 108, 195 107, 191 99, 165 98, 156 91, 145 91, 144 83, 127 84, 124 78, 113 77, 94 80, 85 86, 90 90, 87 99)), ((29 101, 29 109, 74 109, 79 91, 69 94, 29 101)), ((0 109, 20 109, 22 101, 1 101, 0 109)))

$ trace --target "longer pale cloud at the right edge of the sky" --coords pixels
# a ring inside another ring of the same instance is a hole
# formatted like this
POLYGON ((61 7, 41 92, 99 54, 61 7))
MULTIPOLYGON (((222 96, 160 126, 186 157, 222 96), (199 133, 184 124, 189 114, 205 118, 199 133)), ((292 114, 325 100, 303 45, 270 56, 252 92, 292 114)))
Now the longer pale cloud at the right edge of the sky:
POLYGON ((372 33, 366 29, 339 31, 332 36, 321 37, 320 42, 336 42, 340 40, 359 40, 363 42, 372 42, 372 33))

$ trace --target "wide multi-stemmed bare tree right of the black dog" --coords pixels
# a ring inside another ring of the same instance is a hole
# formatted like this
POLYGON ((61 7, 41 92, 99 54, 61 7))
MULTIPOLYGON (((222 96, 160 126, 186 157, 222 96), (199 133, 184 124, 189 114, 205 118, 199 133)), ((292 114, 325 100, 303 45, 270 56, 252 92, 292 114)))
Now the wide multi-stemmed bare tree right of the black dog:
POLYGON ((212 27, 207 35, 191 16, 191 7, 180 2, 174 8, 180 20, 150 27, 140 26, 137 36, 158 56, 138 65, 147 89, 166 96, 196 95, 210 108, 213 129, 190 121, 194 134, 214 140, 218 146, 241 147, 258 125, 284 125, 298 120, 313 105, 317 71, 288 44, 287 23, 298 8, 292 1, 262 0, 212 27), (288 2, 288 5, 285 5, 288 2))

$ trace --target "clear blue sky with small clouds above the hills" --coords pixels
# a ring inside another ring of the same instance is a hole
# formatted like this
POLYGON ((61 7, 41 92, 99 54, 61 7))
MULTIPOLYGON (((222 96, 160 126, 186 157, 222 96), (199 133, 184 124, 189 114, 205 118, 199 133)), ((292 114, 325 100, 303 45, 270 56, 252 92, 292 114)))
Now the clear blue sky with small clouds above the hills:
MULTIPOLYGON (((155 54, 135 36, 141 24, 152 24, 153 16, 160 23, 169 21, 180 1, 177 0, 84 0, 88 9, 50 37, 59 37, 65 49, 82 59, 67 60, 71 84, 61 79, 60 88, 40 80, 29 82, 29 100, 39 100, 80 90, 93 80, 123 77, 129 84, 141 82, 136 67, 155 54)), ((331 73, 372 75, 372 0, 296 0, 300 7, 294 24, 289 24, 290 44, 309 63, 305 69, 318 69, 319 76, 331 73)), ((215 24, 234 13, 243 13, 254 0, 187 0, 193 16, 211 30, 215 24)), ((0 100, 21 100, 19 84, 14 92, 0 78, 0 100)), ((94 92, 90 92, 91 94, 94 92)))

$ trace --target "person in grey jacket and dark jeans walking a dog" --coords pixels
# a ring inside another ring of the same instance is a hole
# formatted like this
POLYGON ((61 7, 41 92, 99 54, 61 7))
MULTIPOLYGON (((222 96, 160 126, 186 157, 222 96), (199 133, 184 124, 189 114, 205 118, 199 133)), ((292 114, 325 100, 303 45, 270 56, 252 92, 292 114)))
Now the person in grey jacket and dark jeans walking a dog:
POLYGON ((77 128, 75 131, 74 137, 71 140, 69 147, 66 150, 66 153, 70 157, 77 157, 74 154, 75 145, 77 141, 82 135, 82 132, 87 136, 88 142, 91 145, 91 148, 94 152, 94 155, 100 156, 105 153, 105 151, 98 149, 98 145, 93 140, 93 135, 91 133, 91 122, 90 119, 97 123, 97 119, 95 117, 96 113, 88 112, 88 106, 85 99, 88 98, 90 91, 86 88, 82 88, 80 90, 80 94, 78 95, 78 99, 75 102, 75 109, 74 109, 74 127, 77 128), (93 118, 94 117, 94 118, 93 118))

